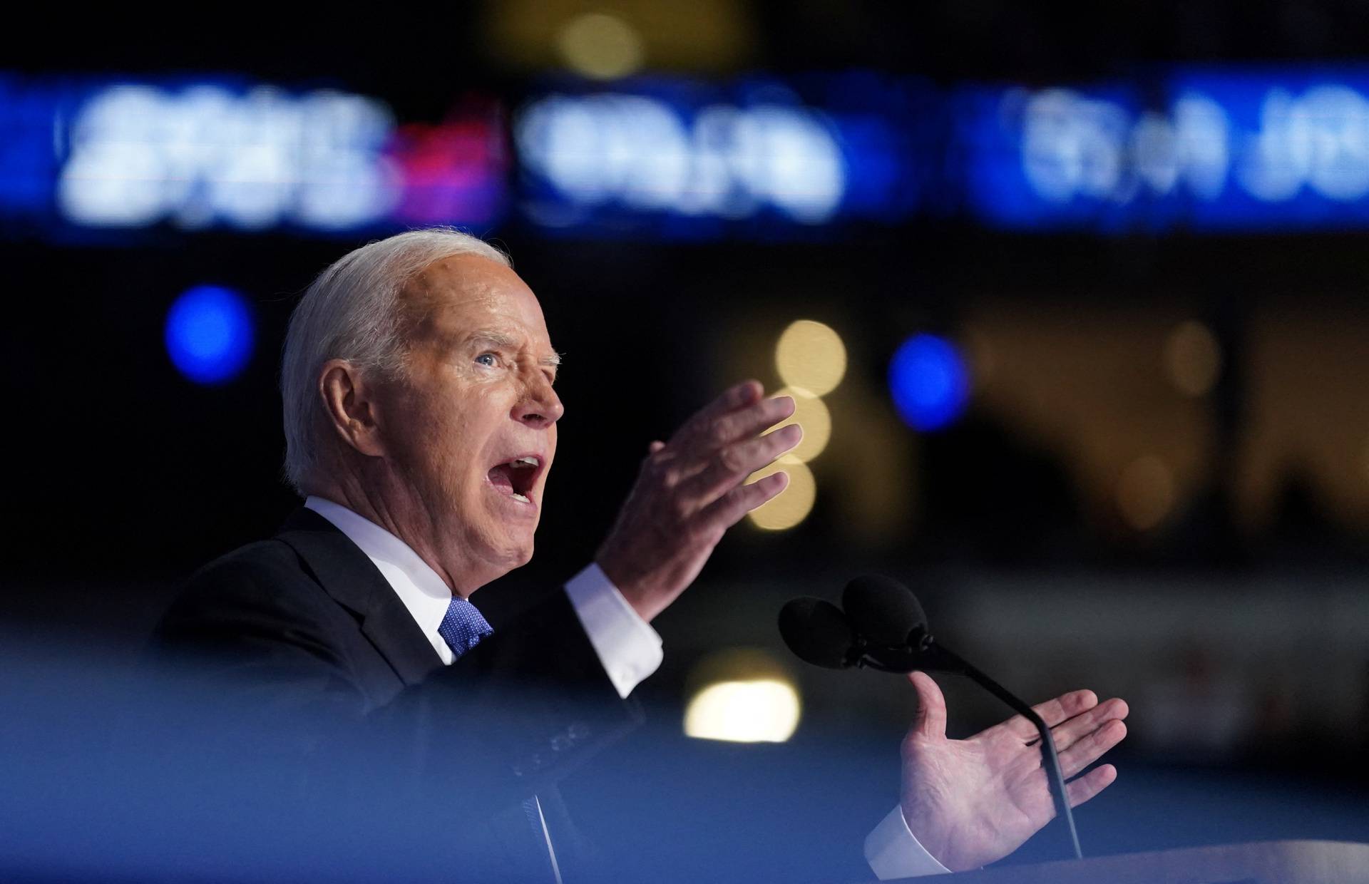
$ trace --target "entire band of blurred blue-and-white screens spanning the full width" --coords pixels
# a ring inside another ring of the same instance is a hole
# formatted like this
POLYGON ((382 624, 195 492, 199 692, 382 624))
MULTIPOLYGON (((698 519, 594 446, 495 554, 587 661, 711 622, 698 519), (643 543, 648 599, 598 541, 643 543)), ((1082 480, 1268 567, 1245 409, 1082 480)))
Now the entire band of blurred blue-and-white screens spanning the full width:
POLYGON ((941 90, 861 71, 564 79, 512 115, 472 99, 433 123, 378 97, 227 77, 0 75, 0 233, 77 239, 487 233, 509 218, 638 239, 957 215, 1046 231, 1369 226, 1369 68, 941 90))

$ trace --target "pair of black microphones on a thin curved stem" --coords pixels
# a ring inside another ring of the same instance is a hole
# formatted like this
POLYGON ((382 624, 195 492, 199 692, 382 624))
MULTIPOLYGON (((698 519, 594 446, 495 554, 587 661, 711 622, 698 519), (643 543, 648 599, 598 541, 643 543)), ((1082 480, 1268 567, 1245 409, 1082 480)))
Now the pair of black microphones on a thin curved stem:
POLYGON ((842 591, 842 605, 845 612, 812 597, 786 602, 779 612, 779 632, 784 645, 799 660, 828 669, 856 666, 898 673, 914 669, 958 673, 1001 699, 1036 727, 1055 814, 1069 829, 1075 858, 1083 859, 1075 816, 1065 796, 1065 777, 1060 770, 1055 740, 1040 716, 968 660, 935 642, 927 628, 921 603, 898 580, 879 575, 856 577, 842 591))

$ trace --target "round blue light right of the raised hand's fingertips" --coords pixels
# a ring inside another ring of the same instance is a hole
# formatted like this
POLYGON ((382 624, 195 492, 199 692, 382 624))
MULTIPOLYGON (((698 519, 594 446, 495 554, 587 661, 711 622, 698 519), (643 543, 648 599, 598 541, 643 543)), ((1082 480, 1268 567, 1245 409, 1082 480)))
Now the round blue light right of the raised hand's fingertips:
POLYGON ((949 341, 913 335, 888 365, 888 391, 904 423, 930 432, 953 423, 965 411, 969 372, 949 341))

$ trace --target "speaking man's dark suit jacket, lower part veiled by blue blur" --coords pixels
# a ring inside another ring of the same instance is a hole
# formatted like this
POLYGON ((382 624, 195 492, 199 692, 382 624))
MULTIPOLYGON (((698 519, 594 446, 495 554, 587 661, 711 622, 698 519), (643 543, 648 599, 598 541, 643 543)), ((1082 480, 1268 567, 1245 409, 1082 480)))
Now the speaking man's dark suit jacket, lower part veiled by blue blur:
MULTIPOLYGON (((561 828, 556 780, 639 721, 564 593, 444 666, 366 554, 308 509, 199 571, 153 649, 170 695, 212 698, 193 716, 197 758, 246 750, 301 806, 452 820, 459 844, 433 869, 481 880, 545 865, 520 801, 538 794, 561 828)), ((559 858, 574 842, 553 840, 559 858)))

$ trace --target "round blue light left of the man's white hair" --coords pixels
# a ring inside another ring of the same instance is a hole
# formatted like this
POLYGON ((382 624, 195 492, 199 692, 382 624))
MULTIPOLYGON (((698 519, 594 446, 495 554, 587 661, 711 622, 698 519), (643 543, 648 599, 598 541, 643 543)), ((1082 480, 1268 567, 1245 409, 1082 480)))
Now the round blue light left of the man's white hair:
POLYGON ((167 354, 196 383, 225 383, 252 359, 252 313, 237 291, 196 286, 167 312, 167 354))

